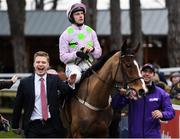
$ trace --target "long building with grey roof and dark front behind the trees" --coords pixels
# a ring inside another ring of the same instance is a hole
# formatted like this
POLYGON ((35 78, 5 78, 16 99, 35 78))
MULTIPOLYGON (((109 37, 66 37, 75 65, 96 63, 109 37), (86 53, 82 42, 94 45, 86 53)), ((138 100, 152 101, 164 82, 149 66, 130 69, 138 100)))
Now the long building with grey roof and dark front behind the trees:
MULTIPOLYGON (((129 11, 122 10, 121 31, 123 39, 129 38, 129 11)), ((166 40, 168 19, 166 9, 142 10, 142 32, 144 63, 154 62, 161 67, 168 67, 166 40)), ((58 40, 60 34, 69 26, 66 11, 27 11, 25 24, 26 47, 33 61, 33 54, 38 50, 47 51, 51 57, 51 65, 56 68, 61 65, 59 60, 58 40)), ((9 21, 6 11, 0 12, 0 70, 13 72, 13 51, 10 44, 9 21)), ((98 10, 97 35, 103 48, 103 53, 110 50, 110 12, 98 10)), ((121 46, 121 44, 120 44, 121 46)), ((31 63, 30 63, 31 64, 31 63)), ((32 71, 32 68, 30 69, 32 71)))

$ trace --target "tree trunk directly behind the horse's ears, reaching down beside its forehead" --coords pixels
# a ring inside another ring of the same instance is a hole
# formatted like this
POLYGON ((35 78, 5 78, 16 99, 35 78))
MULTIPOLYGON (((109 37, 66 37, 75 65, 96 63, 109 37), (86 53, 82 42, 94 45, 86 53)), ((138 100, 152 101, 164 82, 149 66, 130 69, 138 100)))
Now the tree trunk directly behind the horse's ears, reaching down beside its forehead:
POLYGON ((130 0, 130 24, 131 24, 131 46, 136 47, 140 43, 137 60, 143 64, 142 31, 141 31, 141 7, 140 0, 130 0))

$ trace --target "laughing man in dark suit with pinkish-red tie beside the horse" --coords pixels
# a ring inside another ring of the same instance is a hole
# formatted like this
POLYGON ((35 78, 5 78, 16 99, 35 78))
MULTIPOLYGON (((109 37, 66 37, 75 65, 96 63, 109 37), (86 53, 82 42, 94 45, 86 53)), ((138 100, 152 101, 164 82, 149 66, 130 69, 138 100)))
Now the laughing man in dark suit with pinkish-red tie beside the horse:
POLYGON ((27 138, 64 137, 65 129, 59 114, 58 92, 72 95, 72 83, 75 79, 72 77, 65 83, 57 75, 48 74, 49 55, 44 51, 34 54, 33 66, 35 73, 22 79, 18 86, 12 118, 13 131, 20 133, 24 130, 27 138), (45 99, 42 98, 42 92, 45 99), (22 110, 24 113, 21 130, 19 123, 22 110))

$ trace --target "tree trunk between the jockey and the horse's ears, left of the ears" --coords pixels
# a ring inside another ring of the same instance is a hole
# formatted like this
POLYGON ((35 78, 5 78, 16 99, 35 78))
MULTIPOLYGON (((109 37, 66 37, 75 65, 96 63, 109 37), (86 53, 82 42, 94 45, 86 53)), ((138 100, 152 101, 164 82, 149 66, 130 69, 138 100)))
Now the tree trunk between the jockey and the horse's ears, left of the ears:
POLYGON ((121 35, 121 9, 119 0, 110 0, 111 14, 111 46, 110 50, 120 50, 122 43, 121 35))

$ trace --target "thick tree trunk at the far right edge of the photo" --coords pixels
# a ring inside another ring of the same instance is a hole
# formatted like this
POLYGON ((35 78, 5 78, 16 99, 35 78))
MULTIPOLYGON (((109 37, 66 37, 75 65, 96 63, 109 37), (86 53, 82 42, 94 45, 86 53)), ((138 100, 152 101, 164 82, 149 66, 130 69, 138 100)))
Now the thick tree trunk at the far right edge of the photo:
POLYGON ((180 66, 180 1, 166 0, 168 8, 167 50, 170 67, 180 66))

